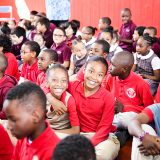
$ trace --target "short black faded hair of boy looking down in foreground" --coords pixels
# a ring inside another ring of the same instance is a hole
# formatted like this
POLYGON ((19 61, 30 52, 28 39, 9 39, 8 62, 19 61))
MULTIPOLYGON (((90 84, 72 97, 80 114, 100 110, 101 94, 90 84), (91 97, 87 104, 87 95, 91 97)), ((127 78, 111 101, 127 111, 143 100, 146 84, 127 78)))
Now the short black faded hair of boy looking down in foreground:
POLYGON ((35 107, 42 107, 46 113, 46 96, 42 89, 33 82, 21 83, 13 87, 6 95, 7 100, 19 100, 17 107, 24 107, 27 111, 35 107))

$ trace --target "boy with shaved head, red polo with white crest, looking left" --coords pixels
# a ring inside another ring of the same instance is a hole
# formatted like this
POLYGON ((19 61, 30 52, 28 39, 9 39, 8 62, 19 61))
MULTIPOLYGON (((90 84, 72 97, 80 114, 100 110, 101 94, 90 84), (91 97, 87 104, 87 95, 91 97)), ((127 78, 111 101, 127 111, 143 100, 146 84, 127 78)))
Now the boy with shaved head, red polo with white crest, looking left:
POLYGON ((130 52, 117 53, 111 59, 110 75, 103 83, 115 97, 113 125, 118 129, 127 129, 131 119, 154 103, 148 83, 131 71, 133 63, 134 58, 130 52))

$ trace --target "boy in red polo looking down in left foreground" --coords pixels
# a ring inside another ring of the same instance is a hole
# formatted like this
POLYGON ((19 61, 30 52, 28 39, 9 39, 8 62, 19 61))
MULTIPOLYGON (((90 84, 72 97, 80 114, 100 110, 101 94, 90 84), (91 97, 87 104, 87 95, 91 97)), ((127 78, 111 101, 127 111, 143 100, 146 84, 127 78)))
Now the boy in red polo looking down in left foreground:
POLYGON ((44 121, 46 97, 40 87, 26 82, 12 88, 6 96, 4 111, 7 128, 18 139, 12 159, 50 160, 60 140, 44 121))

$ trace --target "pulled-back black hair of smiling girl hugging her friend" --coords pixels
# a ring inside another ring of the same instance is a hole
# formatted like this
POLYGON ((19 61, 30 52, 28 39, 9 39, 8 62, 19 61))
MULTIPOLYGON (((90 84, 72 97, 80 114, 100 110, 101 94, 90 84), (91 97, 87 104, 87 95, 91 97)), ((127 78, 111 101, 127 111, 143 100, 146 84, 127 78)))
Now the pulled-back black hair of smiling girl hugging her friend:
POLYGON ((107 71, 108 71, 108 63, 106 61, 106 59, 102 56, 93 56, 91 57, 88 61, 87 61, 87 64, 85 66, 85 68, 87 68, 88 64, 91 63, 91 62, 101 62, 102 64, 104 64, 104 66, 106 67, 106 73, 105 75, 107 74, 107 71))

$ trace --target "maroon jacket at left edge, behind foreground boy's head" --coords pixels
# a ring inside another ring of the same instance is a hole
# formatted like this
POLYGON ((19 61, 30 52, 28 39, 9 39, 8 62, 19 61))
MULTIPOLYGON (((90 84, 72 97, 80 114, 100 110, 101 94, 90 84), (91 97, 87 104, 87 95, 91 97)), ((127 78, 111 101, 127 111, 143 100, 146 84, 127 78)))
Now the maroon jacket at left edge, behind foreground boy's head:
POLYGON ((16 85, 16 78, 8 74, 4 74, 4 77, 0 80, 0 119, 7 119, 3 111, 3 102, 7 92, 16 85))

